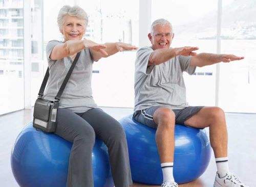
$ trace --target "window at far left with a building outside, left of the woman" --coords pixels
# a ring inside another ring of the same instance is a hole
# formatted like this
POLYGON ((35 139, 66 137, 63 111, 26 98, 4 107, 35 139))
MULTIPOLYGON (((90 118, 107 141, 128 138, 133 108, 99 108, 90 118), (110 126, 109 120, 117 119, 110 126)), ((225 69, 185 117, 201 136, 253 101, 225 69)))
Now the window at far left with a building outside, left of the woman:
POLYGON ((29 103, 34 103, 41 82, 42 1, 31 0, 27 4, 31 12, 24 11, 23 0, 0 1, 0 114, 24 109, 26 91, 31 92, 29 103), (24 28, 25 17, 28 18, 26 21, 31 21, 26 23, 29 28, 24 28), (27 54, 25 60, 25 47, 30 46, 31 49, 27 50, 30 55, 27 54), (26 67, 30 67, 31 72, 25 72, 26 67), (31 83, 28 87, 25 86, 25 73, 27 82, 31 83))

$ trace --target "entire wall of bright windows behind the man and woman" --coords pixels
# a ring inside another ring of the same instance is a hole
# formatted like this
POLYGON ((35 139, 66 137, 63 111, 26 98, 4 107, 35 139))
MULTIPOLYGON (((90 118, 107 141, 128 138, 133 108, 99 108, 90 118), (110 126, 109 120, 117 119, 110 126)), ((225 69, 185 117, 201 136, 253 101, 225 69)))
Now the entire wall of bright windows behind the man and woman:
MULTIPOLYGON (((98 43, 142 47, 150 23, 165 18, 173 24, 172 47, 198 46, 198 52, 244 56, 242 61, 220 63, 220 69, 211 65, 197 68, 194 75, 184 73, 187 101, 217 104, 225 112, 256 113, 254 0, 0 0, 0 115, 34 104, 48 67, 45 46, 63 40, 57 26, 63 5, 79 5, 88 13, 84 38, 98 43)), ((136 51, 124 51, 94 63, 93 96, 99 106, 134 106, 135 58, 136 51)))

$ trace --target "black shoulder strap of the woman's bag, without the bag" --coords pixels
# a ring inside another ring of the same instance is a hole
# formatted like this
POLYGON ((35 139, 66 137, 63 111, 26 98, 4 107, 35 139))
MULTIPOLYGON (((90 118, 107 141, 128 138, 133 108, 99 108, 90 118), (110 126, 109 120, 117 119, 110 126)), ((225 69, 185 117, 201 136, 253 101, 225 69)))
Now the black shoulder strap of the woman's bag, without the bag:
MULTIPOLYGON (((62 95, 62 93, 63 93, 63 91, 64 91, 64 89, 65 89, 65 87, 66 87, 66 85, 67 85, 67 83, 69 81, 71 73, 72 73, 73 69, 75 68, 77 60, 79 59, 79 56, 80 56, 80 52, 77 52, 76 58, 73 61, 72 65, 71 65, 71 67, 70 67, 70 69, 69 69, 69 71, 68 71, 68 73, 67 73, 67 75, 66 75, 66 77, 65 77, 65 79, 63 81, 63 83, 61 84, 61 87, 60 87, 56 97, 55 97, 56 100, 60 99, 60 97, 61 97, 61 95, 62 95)), ((39 93, 38 93, 38 98, 42 97, 44 95, 44 91, 45 91, 45 88, 46 88, 46 84, 47 84, 49 75, 50 74, 49 74, 49 67, 48 67, 47 71, 46 71, 46 74, 45 74, 45 77, 44 77, 44 80, 42 81, 42 84, 41 84, 41 87, 40 87, 40 90, 39 90, 39 93)))

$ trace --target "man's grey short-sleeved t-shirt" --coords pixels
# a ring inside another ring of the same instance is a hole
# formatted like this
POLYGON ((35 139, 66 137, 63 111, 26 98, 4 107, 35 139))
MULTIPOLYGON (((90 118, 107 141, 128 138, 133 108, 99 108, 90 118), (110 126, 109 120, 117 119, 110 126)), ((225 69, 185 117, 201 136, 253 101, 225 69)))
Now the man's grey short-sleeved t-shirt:
POLYGON ((163 106, 172 110, 186 108, 186 88, 182 72, 193 74, 191 57, 177 56, 162 64, 147 66, 151 47, 140 48, 135 61, 135 108, 134 111, 163 106))

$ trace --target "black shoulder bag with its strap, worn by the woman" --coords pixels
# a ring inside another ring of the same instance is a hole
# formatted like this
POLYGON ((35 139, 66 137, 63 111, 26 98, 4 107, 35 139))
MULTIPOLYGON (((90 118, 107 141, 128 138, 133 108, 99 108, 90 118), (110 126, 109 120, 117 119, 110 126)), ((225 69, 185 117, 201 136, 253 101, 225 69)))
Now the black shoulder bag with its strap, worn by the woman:
POLYGON ((34 119, 33 119, 33 127, 36 129, 40 129, 45 132, 55 132, 57 122, 57 110, 59 108, 59 100, 60 97, 69 81, 70 75, 75 68, 77 60, 80 56, 80 52, 77 53, 75 60, 73 61, 54 101, 43 99, 44 91, 46 88, 46 84, 49 78, 49 67, 45 74, 44 80, 42 81, 42 85, 40 87, 37 99, 34 105, 34 119))

